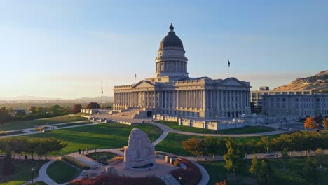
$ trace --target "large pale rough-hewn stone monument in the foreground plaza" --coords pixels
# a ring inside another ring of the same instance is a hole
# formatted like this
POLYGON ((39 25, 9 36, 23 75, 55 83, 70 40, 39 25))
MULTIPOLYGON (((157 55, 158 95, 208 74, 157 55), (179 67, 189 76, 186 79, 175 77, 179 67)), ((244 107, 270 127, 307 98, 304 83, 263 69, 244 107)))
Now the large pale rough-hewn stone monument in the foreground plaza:
POLYGON ((134 128, 130 132, 128 147, 124 151, 124 170, 149 170, 156 167, 155 146, 145 132, 134 128))

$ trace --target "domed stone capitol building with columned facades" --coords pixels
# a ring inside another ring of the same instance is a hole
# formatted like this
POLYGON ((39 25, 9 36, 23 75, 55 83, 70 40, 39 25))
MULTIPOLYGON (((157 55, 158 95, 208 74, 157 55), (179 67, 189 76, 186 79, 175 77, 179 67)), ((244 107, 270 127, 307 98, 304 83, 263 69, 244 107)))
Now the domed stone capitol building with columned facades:
POLYGON ((192 78, 182 41, 170 26, 160 42, 155 76, 132 85, 114 86, 114 111, 190 118, 250 115, 250 82, 236 78, 192 78))

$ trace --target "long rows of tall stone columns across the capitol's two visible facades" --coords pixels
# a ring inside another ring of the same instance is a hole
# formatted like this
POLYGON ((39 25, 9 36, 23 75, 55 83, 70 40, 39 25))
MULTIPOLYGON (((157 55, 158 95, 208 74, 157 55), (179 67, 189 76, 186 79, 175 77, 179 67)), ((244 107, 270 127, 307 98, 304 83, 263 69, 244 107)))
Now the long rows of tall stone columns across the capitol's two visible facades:
POLYGON ((114 93, 114 104, 165 109, 235 110, 250 108, 248 90, 163 90, 114 93), (158 99, 158 97, 160 97, 158 99), (158 101, 159 100, 159 101, 158 101))

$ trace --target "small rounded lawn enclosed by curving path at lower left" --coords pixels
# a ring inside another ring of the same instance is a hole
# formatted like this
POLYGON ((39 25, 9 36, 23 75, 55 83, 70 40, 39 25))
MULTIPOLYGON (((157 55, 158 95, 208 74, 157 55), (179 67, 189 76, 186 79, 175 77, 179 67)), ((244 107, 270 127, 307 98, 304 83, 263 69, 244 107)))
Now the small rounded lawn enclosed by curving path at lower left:
POLYGON ((53 181, 58 184, 75 179, 80 172, 81 170, 71 167, 71 165, 68 165, 60 160, 55 161, 47 168, 47 174, 50 179, 53 179, 53 181))

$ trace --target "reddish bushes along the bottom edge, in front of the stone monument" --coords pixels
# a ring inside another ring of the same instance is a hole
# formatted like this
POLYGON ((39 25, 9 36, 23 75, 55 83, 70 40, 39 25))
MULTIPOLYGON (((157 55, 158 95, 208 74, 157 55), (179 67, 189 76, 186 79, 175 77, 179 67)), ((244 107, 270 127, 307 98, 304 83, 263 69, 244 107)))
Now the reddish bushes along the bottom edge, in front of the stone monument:
POLYGON ((86 185, 86 184, 116 184, 116 185, 165 185, 165 183, 158 177, 119 177, 110 175, 100 175, 95 179, 80 179, 74 180, 70 185, 86 185))

